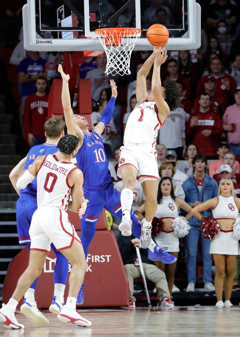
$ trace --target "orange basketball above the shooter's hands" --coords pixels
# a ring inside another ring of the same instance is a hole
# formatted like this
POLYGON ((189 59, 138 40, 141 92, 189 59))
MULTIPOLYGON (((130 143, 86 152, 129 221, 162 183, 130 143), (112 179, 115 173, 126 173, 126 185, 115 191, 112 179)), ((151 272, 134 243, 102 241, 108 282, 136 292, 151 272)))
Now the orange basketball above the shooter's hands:
POLYGON ((163 47, 168 42, 168 38, 169 31, 165 26, 155 24, 148 28, 147 39, 150 44, 163 47))

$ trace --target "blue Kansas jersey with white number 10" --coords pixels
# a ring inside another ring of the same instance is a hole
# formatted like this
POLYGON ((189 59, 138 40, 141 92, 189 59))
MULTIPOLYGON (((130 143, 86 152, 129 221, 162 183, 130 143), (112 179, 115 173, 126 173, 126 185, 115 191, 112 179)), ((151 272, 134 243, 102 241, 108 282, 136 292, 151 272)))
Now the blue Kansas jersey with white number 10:
POLYGON ((101 137, 93 130, 84 132, 83 145, 76 154, 78 167, 83 172, 84 185, 98 188, 112 182, 108 159, 101 137))

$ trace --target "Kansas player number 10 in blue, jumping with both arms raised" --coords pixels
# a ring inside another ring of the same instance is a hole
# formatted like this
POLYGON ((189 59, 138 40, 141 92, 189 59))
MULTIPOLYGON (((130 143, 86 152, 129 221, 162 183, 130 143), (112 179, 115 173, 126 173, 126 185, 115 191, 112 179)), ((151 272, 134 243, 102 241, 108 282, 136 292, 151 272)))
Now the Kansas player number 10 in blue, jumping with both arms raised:
MULTIPOLYGON (((84 176, 84 197, 88 200, 87 210, 81 219, 81 241, 85 256, 88 254, 89 245, 95 235, 95 226, 102 209, 105 208, 111 214, 122 219, 121 194, 112 183, 111 174, 108 170, 108 160, 104 151, 101 133, 109 124, 113 115, 115 100, 117 97, 117 87, 113 80, 110 80, 112 97, 103 111, 99 123, 89 130, 89 123, 80 115, 74 115, 71 109, 70 94, 68 88, 69 75, 63 72, 59 64, 58 71, 61 73, 62 82, 62 105, 64 118, 67 126, 67 133, 79 137, 80 149, 76 155, 78 167, 84 176)), ((131 233, 140 239, 141 225, 131 209, 131 230, 122 231, 122 235, 130 236, 131 233)), ((173 263, 175 256, 162 250, 151 240, 149 244, 151 259, 160 260, 164 263, 173 263)), ((83 303, 82 285, 77 304, 83 303)))

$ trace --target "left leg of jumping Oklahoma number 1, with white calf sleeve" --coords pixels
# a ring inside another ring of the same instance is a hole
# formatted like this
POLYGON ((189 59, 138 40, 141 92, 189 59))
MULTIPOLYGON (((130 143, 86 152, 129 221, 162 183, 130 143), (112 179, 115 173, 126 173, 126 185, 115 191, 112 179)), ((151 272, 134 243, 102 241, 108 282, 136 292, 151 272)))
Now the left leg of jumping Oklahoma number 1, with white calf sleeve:
POLYGON ((123 189, 121 192, 122 221, 119 225, 119 231, 122 232, 123 236, 130 236, 132 234, 131 207, 137 172, 132 165, 122 166, 120 172, 123 180, 123 189))

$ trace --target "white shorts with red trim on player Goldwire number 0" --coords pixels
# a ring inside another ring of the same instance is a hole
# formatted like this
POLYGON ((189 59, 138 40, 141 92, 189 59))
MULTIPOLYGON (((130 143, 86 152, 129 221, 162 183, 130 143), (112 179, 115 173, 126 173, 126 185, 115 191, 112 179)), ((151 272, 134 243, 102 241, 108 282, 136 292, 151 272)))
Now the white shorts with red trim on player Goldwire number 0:
POLYGON ((81 243, 65 211, 56 207, 38 207, 29 229, 30 250, 50 252, 51 242, 57 250, 70 248, 73 240, 81 243))

